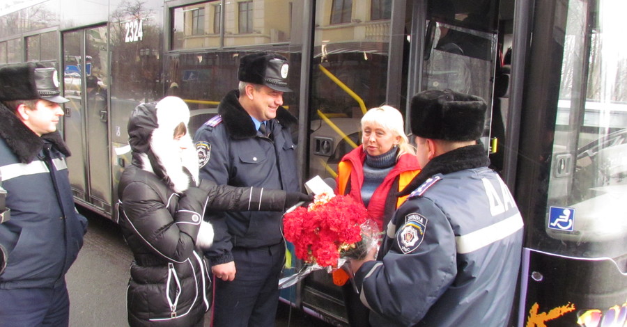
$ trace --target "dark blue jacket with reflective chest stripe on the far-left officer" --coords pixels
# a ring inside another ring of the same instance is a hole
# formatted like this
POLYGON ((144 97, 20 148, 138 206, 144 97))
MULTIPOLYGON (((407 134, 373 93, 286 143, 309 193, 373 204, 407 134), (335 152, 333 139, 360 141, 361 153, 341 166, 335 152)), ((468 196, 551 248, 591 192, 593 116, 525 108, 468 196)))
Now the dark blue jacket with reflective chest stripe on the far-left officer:
POLYGON ((87 220, 76 211, 59 132, 41 137, 0 104, 0 173, 10 221, 0 224, 6 270, 0 289, 49 288, 83 245, 87 220))

